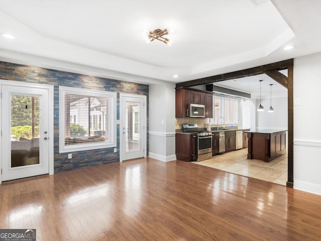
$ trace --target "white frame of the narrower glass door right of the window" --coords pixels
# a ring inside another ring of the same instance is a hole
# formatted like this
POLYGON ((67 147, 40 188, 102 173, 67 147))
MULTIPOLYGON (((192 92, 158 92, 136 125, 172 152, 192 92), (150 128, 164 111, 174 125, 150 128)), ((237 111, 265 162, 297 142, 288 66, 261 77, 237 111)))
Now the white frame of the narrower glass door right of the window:
POLYGON ((143 106, 143 141, 142 141, 142 146, 144 151, 144 157, 146 157, 146 153, 147 153, 147 97, 146 95, 139 95, 139 94, 127 94, 127 93, 119 93, 119 161, 122 162, 123 161, 123 151, 126 148, 123 143, 123 137, 124 135, 122 135, 122 130, 121 130, 121 125, 122 125, 122 121, 123 118, 126 118, 126 116, 123 116, 123 109, 122 109, 122 104, 123 104, 123 100, 122 97, 133 97, 133 98, 143 98, 144 100, 144 106, 143 106))

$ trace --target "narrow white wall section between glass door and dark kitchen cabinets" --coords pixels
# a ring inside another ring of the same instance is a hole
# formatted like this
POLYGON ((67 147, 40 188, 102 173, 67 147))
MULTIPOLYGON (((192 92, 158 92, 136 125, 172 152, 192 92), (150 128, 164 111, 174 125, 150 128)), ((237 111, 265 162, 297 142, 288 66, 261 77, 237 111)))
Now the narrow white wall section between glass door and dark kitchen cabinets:
POLYGON ((176 160, 175 84, 149 85, 149 152, 161 160, 176 160))

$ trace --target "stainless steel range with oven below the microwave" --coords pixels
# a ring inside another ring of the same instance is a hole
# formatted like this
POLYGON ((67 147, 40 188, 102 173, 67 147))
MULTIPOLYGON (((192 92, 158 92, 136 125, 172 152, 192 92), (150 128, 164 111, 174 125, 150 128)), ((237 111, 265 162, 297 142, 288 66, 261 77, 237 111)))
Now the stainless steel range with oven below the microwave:
POLYGON ((197 124, 183 124, 183 132, 189 132, 196 136, 196 161, 203 161, 212 157, 212 132, 201 130, 197 124))

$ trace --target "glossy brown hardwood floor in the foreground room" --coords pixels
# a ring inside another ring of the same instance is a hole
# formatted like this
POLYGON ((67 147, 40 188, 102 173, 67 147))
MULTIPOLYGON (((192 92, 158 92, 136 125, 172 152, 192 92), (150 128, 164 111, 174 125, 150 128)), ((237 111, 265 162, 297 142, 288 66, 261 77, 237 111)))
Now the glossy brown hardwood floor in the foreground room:
POLYGON ((321 196, 151 158, 0 185, 0 228, 40 240, 321 240, 321 196))

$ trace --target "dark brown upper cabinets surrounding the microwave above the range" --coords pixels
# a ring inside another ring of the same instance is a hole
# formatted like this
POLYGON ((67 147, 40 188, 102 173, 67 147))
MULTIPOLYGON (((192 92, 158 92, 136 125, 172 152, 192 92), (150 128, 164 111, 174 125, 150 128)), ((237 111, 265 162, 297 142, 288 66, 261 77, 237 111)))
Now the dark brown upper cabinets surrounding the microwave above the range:
POLYGON ((176 118, 188 117, 189 104, 205 105, 205 117, 213 117, 213 94, 186 87, 176 88, 176 118))

